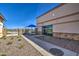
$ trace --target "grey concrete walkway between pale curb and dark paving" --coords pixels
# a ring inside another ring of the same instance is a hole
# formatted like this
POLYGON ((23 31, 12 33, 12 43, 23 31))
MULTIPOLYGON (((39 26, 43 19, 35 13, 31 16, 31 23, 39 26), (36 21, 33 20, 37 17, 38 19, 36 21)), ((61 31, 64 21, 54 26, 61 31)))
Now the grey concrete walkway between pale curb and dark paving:
POLYGON ((32 40, 33 42, 35 42, 36 44, 38 44, 39 46, 41 46, 42 48, 44 48, 45 50, 47 50, 48 52, 51 48, 57 48, 57 49, 60 49, 61 51, 64 52, 63 56, 76 56, 77 55, 77 53, 75 53, 73 51, 64 49, 62 47, 59 47, 57 45, 51 44, 49 42, 46 42, 46 41, 43 41, 43 40, 40 40, 40 39, 37 39, 34 36, 29 36, 29 35, 25 35, 25 36, 27 38, 29 38, 30 40, 32 40))

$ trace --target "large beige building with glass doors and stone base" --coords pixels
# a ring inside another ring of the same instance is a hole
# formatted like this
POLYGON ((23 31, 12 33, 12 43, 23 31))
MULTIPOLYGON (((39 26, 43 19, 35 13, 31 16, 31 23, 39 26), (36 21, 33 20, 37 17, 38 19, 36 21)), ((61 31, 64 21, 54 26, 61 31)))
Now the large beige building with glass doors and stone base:
POLYGON ((79 4, 60 4, 37 17, 40 34, 79 40, 79 4))

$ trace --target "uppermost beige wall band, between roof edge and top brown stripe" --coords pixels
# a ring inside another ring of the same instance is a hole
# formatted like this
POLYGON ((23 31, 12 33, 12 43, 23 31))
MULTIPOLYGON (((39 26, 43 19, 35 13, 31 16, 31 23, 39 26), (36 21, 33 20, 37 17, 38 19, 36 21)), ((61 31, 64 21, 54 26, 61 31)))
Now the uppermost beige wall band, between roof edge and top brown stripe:
POLYGON ((55 10, 50 11, 49 13, 41 16, 37 19, 37 23, 44 22, 50 19, 54 19, 57 17, 61 17, 64 15, 72 14, 75 12, 79 12, 79 4, 73 3, 73 4, 65 4, 55 10), (53 16, 54 14, 54 16, 53 16))

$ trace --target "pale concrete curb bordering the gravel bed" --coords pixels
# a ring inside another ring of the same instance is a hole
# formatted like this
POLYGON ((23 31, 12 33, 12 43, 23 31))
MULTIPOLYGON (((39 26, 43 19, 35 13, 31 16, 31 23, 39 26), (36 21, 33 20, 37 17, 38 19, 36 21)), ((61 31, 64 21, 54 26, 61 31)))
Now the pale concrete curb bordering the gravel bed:
POLYGON ((26 41, 28 41, 28 43, 30 43, 35 49, 37 49, 43 56, 54 56, 51 53, 47 52, 45 49, 43 49, 42 47, 40 47, 39 45, 37 45, 36 43, 34 43, 33 41, 31 41, 30 39, 28 39, 27 37, 25 37, 24 35, 21 35, 26 41))

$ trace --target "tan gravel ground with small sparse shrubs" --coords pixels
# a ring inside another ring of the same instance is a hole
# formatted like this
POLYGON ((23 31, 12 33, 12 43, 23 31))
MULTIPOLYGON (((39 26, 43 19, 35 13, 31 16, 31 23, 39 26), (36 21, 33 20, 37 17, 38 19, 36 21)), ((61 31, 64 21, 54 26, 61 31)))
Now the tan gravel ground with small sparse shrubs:
POLYGON ((42 56, 26 40, 18 36, 0 39, 0 56, 42 56))

